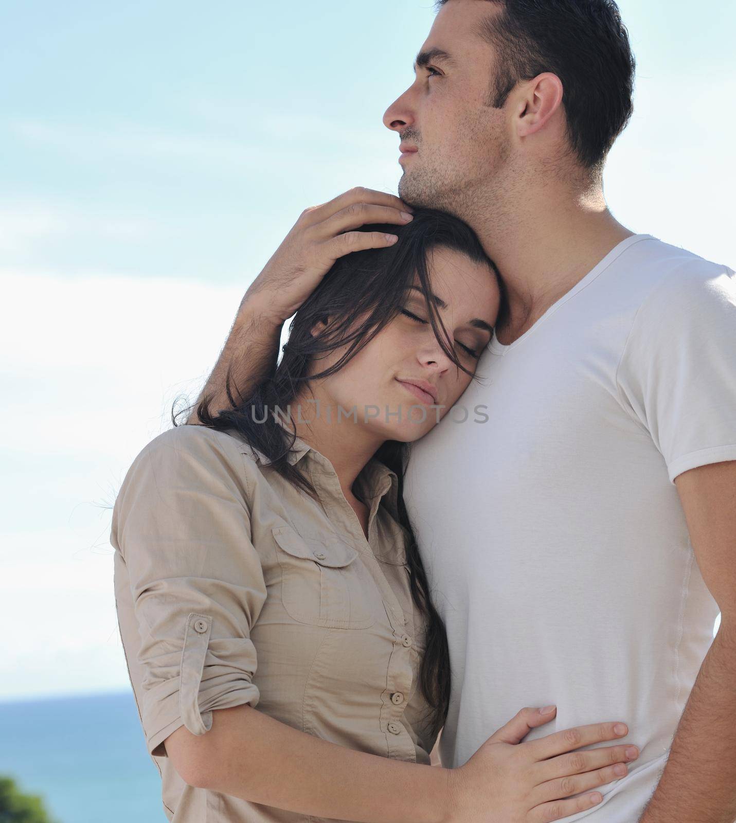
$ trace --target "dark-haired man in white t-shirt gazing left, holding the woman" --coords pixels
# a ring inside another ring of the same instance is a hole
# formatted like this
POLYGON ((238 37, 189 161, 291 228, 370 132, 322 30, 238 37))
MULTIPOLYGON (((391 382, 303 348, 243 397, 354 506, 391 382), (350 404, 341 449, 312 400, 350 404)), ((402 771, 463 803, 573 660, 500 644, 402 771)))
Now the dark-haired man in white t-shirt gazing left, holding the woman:
MULTIPOLYGON (((450 641, 443 765, 524 704, 557 704, 529 740, 620 716, 640 758, 566 820, 732 823, 734 272, 608 212, 634 68, 613 0, 439 7, 384 116, 398 193, 473 226, 505 292, 461 398, 487 421, 449 414, 405 490, 450 641)), ((273 364, 282 285, 249 289, 207 392, 273 364)))

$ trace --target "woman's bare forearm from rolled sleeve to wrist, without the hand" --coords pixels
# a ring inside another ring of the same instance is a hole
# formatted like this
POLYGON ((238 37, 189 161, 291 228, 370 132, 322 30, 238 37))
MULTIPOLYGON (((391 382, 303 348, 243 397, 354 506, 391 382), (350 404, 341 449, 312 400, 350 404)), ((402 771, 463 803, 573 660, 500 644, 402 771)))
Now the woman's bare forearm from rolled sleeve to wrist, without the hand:
POLYGON ((299 732, 248 704, 182 726, 166 753, 187 783, 304 815, 363 823, 450 821, 451 770, 392 760, 299 732))

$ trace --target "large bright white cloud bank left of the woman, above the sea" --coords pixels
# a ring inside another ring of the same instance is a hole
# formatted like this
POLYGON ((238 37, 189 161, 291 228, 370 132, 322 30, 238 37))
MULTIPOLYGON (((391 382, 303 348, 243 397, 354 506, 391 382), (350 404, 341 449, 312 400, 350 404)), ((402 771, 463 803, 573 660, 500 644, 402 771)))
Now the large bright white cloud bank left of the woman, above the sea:
POLYGON ((0 621, 20 628, 0 698, 127 686, 103 506, 200 390, 247 286, 0 272, 0 621))

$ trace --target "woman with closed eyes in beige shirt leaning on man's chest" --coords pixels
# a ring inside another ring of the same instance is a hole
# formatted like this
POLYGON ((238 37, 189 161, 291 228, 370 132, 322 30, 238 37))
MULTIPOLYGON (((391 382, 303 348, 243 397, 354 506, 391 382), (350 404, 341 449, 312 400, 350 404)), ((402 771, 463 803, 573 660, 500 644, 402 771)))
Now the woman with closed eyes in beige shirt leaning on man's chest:
POLYGON ((566 753, 627 730, 521 742, 554 707, 522 709, 459 769, 425 768, 450 658, 403 468, 473 379, 499 286, 454 216, 363 230, 300 305, 275 373, 237 397, 228 381, 229 407, 204 398, 202 425, 153 439, 116 500, 119 626, 167 815, 507 823, 589 809, 590 788, 627 774, 625 746, 566 753), (375 239, 387 230, 397 243, 375 239))

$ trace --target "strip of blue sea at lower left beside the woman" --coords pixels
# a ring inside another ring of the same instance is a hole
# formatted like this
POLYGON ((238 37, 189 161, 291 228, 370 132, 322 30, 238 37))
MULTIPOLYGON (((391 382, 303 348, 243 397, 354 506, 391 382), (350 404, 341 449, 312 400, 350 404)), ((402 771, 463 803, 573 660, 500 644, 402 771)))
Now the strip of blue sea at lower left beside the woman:
POLYGON ((132 691, 0 703, 0 775, 54 823, 166 823, 132 691))

